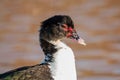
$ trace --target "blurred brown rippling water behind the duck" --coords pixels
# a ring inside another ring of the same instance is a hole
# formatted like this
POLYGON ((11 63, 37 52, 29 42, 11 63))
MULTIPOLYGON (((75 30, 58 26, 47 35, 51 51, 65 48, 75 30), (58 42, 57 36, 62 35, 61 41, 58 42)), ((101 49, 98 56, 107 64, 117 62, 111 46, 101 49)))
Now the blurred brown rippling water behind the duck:
POLYGON ((1 0, 0 73, 41 62, 39 25, 56 14, 71 16, 87 43, 64 40, 78 80, 120 80, 120 0, 1 0))

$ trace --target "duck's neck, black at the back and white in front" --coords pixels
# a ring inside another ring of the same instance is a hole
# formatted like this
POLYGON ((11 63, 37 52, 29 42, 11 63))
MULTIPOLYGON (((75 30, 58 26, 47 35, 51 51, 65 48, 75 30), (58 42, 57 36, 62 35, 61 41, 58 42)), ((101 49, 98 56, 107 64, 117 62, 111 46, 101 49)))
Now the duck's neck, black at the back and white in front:
POLYGON ((61 41, 41 40, 41 47, 45 53, 43 63, 50 66, 55 80, 76 80, 75 59, 71 48, 61 41))

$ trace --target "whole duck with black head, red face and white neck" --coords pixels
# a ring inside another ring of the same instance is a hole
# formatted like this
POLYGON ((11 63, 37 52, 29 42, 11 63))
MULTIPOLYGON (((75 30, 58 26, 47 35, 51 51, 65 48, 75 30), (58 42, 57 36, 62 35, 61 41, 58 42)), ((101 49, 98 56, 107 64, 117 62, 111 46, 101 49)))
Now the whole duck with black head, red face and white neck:
POLYGON ((0 80, 77 80, 74 54, 61 42, 67 37, 85 45, 77 35, 72 19, 66 15, 48 18, 41 24, 39 37, 45 54, 43 62, 0 74, 0 80))

